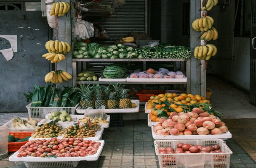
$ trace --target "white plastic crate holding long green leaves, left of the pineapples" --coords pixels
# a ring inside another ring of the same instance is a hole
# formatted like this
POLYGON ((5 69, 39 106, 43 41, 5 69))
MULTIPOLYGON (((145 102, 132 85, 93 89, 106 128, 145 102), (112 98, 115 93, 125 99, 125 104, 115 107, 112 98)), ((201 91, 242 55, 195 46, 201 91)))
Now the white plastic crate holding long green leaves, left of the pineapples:
POLYGON ((45 118, 45 115, 52 113, 53 111, 65 110, 69 114, 75 114, 75 109, 78 107, 79 103, 75 107, 31 107, 30 103, 26 106, 29 113, 29 117, 33 118, 45 118))

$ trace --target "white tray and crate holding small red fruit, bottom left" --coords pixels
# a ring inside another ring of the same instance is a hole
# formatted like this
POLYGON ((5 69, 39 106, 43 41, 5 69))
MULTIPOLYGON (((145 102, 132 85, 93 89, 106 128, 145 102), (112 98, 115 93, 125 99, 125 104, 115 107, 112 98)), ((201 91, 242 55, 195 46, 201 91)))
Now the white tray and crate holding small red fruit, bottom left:
POLYGON ((13 162, 24 161, 27 168, 75 168, 77 167, 80 160, 93 161, 99 159, 99 156, 104 147, 104 141, 96 142, 101 142, 101 146, 99 147, 97 153, 94 155, 87 155, 85 157, 17 157, 19 154, 17 151, 9 157, 9 160, 13 162))

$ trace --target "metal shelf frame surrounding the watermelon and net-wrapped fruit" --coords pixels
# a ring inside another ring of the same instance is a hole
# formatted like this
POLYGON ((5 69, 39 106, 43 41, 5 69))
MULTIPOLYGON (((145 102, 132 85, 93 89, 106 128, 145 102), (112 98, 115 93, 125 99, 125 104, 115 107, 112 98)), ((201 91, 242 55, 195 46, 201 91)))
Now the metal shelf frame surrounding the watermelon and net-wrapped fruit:
MULTIPOLYGON (((141 84, 187 84, 187 93, 190 93, 190 59, 72 59, 73 86, 77 84, 110 84, 108 81, 77 81, 77 73, 83 71, 80 66, 82 62, 143 62, 143 69, 146 68, 146 62, 186 62, 187 82, 142 82, 141 84)), ((184 67, 181 66, 181 69, 184 67)), ((119 82, 121 84, 138 84, 138 82, 119 82)))

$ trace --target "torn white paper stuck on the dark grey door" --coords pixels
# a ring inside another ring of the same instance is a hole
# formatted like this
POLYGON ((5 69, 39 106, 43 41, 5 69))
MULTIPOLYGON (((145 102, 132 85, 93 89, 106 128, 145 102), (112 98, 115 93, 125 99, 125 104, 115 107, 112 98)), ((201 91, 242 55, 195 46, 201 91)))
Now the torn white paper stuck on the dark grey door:
MULTIPOLYGON (((0 50, 0 53, 3 54, 6 60, 11 60, 13 58, 13 52, 17 53, 17 36, 16 35, 0 35, 1 38, 7 39, 11 48, 0 50)), ((0 44, 1 45, 1 44, 0 44)))

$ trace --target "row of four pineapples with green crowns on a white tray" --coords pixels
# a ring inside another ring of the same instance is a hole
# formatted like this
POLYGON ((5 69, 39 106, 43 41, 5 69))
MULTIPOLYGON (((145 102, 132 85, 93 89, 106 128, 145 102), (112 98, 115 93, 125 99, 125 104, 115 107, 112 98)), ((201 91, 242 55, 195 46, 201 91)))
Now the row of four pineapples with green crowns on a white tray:
POLYGON ((128 97, 129 89, 124 89, 121 84, 114 83, 106 86, 101 86, 99 84, 80 84, 78 88, 80 93, 80 105, 83 109, 92 107, 93 109, 98 109, 102 105, 106 109, 116 109, 116 108, 132 108, 131 99, 128 97))

